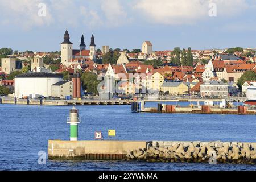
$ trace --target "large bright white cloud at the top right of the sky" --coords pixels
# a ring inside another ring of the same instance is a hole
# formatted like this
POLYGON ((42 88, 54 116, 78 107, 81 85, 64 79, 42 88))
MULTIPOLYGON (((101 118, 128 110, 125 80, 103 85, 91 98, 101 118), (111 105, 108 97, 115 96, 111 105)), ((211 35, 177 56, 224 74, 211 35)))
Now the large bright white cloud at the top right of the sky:
POLYGON ((139 0, 134 5, 149 20, 162 24, 193 24, 209 18, 209 3, 217 5, 217 18, 247 9, 245 0, 139 0))

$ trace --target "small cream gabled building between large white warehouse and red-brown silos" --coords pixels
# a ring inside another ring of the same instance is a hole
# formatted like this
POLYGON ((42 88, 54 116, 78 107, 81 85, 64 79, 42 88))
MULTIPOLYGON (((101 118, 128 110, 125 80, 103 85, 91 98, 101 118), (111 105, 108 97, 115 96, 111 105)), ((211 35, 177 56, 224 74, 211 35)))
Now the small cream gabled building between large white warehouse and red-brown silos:
POLYGON ((73 96, 73 82, 72 81, 59 81, 52 85, 52 97, 66 98, 73 96))

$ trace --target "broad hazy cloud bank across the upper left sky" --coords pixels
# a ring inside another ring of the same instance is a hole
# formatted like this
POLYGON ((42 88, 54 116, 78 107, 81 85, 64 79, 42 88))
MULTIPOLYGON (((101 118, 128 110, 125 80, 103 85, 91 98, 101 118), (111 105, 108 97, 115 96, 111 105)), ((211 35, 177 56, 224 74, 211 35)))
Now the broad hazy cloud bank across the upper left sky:
POLYGON ((61 26, 90 29, 118 27, 127 23, 127 12, 119 0, 1 0, 0 25, 23 27, 61 26), (39 3, 46 3, 46 16, 38 16, 39 3))

